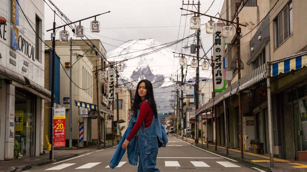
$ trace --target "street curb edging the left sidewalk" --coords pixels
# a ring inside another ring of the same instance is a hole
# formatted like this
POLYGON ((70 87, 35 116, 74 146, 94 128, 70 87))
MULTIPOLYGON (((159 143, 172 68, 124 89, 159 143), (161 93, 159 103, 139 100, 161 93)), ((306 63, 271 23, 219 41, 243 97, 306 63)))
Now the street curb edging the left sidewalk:
MULTIPOLYGON (((114 145, 106 146, 106 149, 112 148, 112 147, 114 147, 114 145)), ((76 157, 76 156, 79 156, 79 155, 83 155, 83 154, 87 154, 87 153, 95 152, 95 151, 96 150, 91 149, 89 151, 85 151, 85 152, 82 152, 82 153, 76 153, 76 154, 68 155, 66 157, 61 157, 61 158, 55 159, 54 162, 69 159, 69 158, 72 158, 72 157, 76 157)), ((52 160, 46 160, 46 161, 41 162, 41 163, 34 163, 34 164, 25 165, 25 166, 15 166, 14 169, 12 169, 10 171, 6 171, 6 172, 19 172, 19 171, 27 170, 27 169, 30 169, 30 168, 33 168, 33 167, 42 166, 42 165, 54 163, 54 162, 52 160)))

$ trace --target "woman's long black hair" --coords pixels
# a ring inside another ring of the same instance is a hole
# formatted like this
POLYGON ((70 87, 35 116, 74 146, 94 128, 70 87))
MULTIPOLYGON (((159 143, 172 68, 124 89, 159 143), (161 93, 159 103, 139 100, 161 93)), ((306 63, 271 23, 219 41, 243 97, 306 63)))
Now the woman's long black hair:
MULTIPOLYGON (((141 84, 141 83, 145 83, 145 87, 146 87, 146 90, 147 90, 147 94, 145 96, 145 100, 148 101, 151 109, 153 110, 153 114, 155 116, 155 118, 157 118, 157 105, 156 105, 156 102, 154 101, 154 96, 153 96, 153 85, 151 84, 151 82, 149 80, 141 80, 140 82, 138 82, 138 86, 141 84)), ((136 117, 136 113, 140 107, 140 104, 142 103, 142 98, 141 96, 138 94, 138 86, 136 87, 136 92, 135 92, 135 96, 134 96, 134 101, 133 101, 133 105, 131 107, 133 113, 134 113, 134 116, 136 117)))

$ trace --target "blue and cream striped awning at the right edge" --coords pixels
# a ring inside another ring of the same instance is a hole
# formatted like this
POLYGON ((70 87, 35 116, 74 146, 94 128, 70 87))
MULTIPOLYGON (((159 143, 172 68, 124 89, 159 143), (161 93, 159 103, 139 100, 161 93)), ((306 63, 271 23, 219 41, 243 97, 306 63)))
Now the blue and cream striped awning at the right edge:
POLYGON ((307 52, 294 54, 291 57, 285 58, 281 62, 272 62, 271 76, 277 76, 279 73, 287 73, 291 70, 301 69, 307 66, 307 52))

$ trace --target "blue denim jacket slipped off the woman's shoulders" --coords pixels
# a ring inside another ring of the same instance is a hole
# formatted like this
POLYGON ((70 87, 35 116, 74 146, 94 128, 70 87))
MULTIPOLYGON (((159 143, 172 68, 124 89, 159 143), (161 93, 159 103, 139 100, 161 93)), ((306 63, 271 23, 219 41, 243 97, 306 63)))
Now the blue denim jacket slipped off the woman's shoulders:
MULTIPOLYGON (((139 110, 138 110, 138 114, 139 114, 139 110)), ((134 124, 137 122, 136 117, 134 117, 131 119, 125 133, 122 135, 122 139, 119 141, 119 145, 115 150, 115 153, 111 159, 111 162, 109 164, 109 166, 114 169, 116 166, 118 166, 120 160, 122 159, 122 156, 125 154, 126 149, 122 148, 122 144, 123 142, 126 140, 126 138, 128 137, 128 135, 130 134, 134 124)), ((167 139, 167 135, 165 132, 165 129, 163 127, 163 125, 161 124, 159 119, 155 119, 155 123, 156 123, 156 133, 157 133, 157 138, 158 138, 158 146, 160 147, 166 147, 166 144, 168 142, 167 139)), ((144 125, 144 124, 143 124, 144 125)), ((127 156, 128 156, 128 160, 129 160, 129 164, 137 166, 138 165, 138 147, 137 147, 137 136, 134 136, 129 144, 128 144, 128 148, 127 148, 127 156)))

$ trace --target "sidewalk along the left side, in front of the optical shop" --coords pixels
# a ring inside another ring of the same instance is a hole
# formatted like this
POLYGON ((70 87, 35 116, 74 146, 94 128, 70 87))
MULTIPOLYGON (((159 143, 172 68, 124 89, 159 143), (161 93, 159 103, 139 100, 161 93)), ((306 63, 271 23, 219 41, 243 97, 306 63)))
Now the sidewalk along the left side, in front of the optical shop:
MULTIPOLYGON (((114 146, 117 145, 114 143, 114 146)), ((113 147, 112 143, 106 144, 106 148, 113 147)), ((100 146, 100 149, 103 148, 103 144, 100 146)), ((97 146, 89 148, 80 148, 80 149, 55 149, 53 156, 55 161, 60 161, 63 159, 68 159, 71 157, 79 156, 89 152, 97 150, 97 146)), ((52 160, 49 160, 49 151, 45 150, 44 155, 36 157, 26 157, 12 160, 0 161, 0 172, 13 172, 13 171, 23 171, 32 167, 45 165, 47 163, 52 163, 52 160)))

